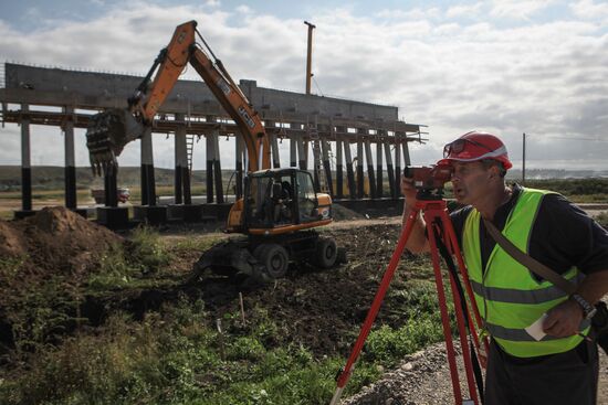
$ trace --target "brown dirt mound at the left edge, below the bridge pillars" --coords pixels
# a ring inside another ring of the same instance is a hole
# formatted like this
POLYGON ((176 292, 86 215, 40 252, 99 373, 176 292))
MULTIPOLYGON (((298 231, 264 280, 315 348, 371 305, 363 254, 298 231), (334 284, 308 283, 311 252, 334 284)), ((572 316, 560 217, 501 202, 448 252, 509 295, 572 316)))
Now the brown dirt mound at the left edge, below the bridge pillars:
POLYGON ((62 206, 23 221, 0 221, 0 255, 29 274, 82 269, 122 237, 62 206))

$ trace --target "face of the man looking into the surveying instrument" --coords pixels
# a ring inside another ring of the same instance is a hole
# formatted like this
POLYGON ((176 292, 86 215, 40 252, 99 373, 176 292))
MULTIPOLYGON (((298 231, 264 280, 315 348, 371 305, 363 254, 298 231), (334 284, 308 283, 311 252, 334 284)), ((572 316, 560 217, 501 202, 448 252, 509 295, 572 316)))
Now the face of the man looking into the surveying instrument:
POLYGON ((488 195, 491 170, 485 169, 482 162, 453 162, 452 167, 452 185, 459 203, 475 205, 488 195))

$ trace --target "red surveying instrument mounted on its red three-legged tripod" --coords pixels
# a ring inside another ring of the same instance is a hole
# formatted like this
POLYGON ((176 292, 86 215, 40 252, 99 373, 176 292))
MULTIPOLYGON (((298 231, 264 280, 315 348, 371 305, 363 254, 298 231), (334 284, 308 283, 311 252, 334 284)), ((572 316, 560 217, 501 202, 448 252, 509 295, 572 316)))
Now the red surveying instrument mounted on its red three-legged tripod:
POLYGON ((450 365, 450 374, 452 379, 452 388, 454 394, 455 405, 479 405, 483 398, 483 381, 480 367, 479 359, 484 358, 489 352, 488 339, 483 339, 483 348, 480 343, 480 335, 478 330, 482 330, 482 321, 475 306, 473 290, 469 281, 469 275, 462 258, 462 254, 458 246, 457 235, 450 221, 445 200, 443 200, 443 186, 451 179, 452 169, 449 166, 431 166, 431 167, 407 167, 403 171, 406 178, 413 179, 413 185, 417 189, 417 203, 411 209, 411 212, 406 222, 406 226, 401 231, 401 236, 397 243, 397 247, 392 253, 388 267, 380 281, 380 287, 376 292, 371 307, 367 312, 367 317, 361 326, 359 337, 357 338, 350 356, 348 358, 346 365, 338 372, 336 376, 337 387, 332 398, 331 405, 339 403, 339 397, 350 374, 353 373, 355 363, 359 356, 359 353, 364 347, 365 340, 369 334, 371 326, 378 315, 382 299, 388 290, 388 286, 395 275, 397 265, 403 253, 403 248, 411 234, 413 225, 422 214, 422 219, 426 222, 427 237, 430 245, 430 254, 432 266, 434 270, 434 281, 437 287, 437 294, 439 298, 439 309, 441 312, 441 322, 443 327, 443 335, 445 337, 445 350, 448 353, 448 363, 450 365), (464 363, 467 387, 469 395, 463 397, 460 377, 457 367, 457 353, 452 340, 452 332, 450 328, 450 318, 448 313, 448 305, 445 300, 445 287, 443 283, 443 276, 441 274, 441 266, 439 255, 444 258, 448 266, 449 284, 454 302, 454 312, 458 328, 458 338, 460 339, 460 347, 462 352, 462 360, 464 363), (457 270, 452 256, 455 256, 458 262, 457 270), (462 283, 461 283, 462 279, 462 283), (464 284, 465 288, 462 288, 464 284), (469 302, 467 301, 467 296, 469 302), (469 310, 471 308, 471 310, 469 310), (475 384, 476 383, 476 384, 475 384))

